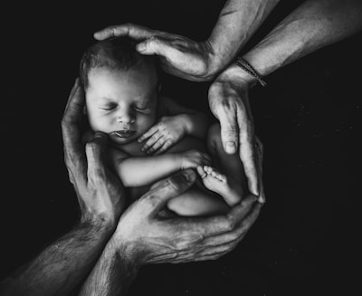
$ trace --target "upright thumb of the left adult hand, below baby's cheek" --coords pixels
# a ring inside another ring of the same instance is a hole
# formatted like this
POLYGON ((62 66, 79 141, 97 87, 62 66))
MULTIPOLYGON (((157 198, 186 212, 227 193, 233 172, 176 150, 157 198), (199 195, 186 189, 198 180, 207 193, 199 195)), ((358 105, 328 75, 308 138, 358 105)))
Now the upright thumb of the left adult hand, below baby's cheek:
POLYGON ((96 132, 94 138, 85 146, 88 162, 88 180, 94 184, 104 180, 105 167, 101 160, 101 153, 107 145, 107 136, 101 132, 96 132))

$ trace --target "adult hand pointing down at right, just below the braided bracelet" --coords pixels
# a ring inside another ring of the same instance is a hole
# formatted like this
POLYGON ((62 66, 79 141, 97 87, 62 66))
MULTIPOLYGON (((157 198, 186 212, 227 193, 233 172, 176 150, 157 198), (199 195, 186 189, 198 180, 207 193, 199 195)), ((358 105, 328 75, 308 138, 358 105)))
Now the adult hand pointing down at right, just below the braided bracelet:
POLYGON ((250 192, 264 202, 262 170, 258 165, 258 146, 249 103, 249 90, 255 80, 237 65, 231 65, 213 82, 209 89, 209 105, 220 121, 221 138, 226 153, 239 151, 250 192))

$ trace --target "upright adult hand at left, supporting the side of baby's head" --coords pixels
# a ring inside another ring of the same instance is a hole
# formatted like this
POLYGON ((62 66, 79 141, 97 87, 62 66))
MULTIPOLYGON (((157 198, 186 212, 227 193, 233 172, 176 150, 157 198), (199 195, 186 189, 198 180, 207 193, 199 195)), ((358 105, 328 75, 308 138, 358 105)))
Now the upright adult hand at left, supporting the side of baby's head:
POLYGON ((105 134, 95 133, 85 145, 84 154, 80 130, 83 106, 84 93, 77 79, 62 118, 65 165, 81 206, 81 220, 97 220, 115 227, 124 210, 124 189, 119 179, 103 165, 105 134))

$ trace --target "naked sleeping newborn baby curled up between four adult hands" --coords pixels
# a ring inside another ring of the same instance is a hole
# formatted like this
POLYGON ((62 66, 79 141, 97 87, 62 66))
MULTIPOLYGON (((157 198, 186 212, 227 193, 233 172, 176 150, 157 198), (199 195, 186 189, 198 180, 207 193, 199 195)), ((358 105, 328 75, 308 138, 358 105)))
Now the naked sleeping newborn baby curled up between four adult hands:
POLYGON ((225 213, 243 196, 243 165, 224 152, 218 125, 208 129, 205 115, 159 94, 157 68, 156 58, 138 54, 128 37, 90 46, 81 59, 90 128, 109 135, 106 162, 132 200, 159 179, 192 167, 199 178, 168 209, 177 215, 225 213))

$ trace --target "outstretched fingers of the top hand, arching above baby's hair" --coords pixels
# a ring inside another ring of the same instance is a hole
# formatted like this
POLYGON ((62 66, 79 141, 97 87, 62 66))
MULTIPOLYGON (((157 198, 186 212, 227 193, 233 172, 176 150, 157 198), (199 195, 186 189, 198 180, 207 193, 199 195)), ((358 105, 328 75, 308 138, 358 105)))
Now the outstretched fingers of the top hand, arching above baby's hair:
POLYGON ((157 31, 148 29, 138 24, 116 24, 110 25, 93 34, 97 40, 104 40, 110 37, 129 36, 136 40, 143 40, 156 34, 157 31))

